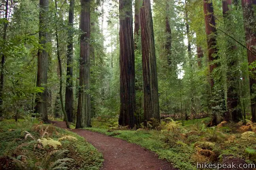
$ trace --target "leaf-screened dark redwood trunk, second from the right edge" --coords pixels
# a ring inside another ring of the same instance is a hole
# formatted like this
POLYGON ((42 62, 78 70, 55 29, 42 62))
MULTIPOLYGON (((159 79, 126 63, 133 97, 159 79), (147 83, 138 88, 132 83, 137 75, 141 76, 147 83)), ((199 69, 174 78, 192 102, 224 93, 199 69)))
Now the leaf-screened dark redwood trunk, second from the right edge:
MULTIPOLYGON (((223 9, 223 17, 224 22, 228 30, 231 30, 232 25, 231 18, 229 16, 230 7, 232 5, 232 0, 222 0, 222 9, 223 9)), ((235 50, 237 47, 233 43, 233 41, 228 41, 227 44, 227 105, 228 105, 228 112, 224 115, 224 119, 226 121, 233 120, 235 122, 239 122, 242 118, 241 111, 238 110, 238 84, 239 84, 239 70, 237 69, 238 63, 237 59, 235 58, 235 50)))

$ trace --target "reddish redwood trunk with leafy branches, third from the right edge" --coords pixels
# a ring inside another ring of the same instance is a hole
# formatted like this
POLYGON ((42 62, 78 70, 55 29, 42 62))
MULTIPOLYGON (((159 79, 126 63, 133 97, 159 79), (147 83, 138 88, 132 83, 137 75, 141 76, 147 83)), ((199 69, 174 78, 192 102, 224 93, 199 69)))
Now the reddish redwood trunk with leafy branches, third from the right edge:
MULTIPOLYGON (((213 11, 213 3, 211 0, 203 0, 203 11, 205 14, 205 32, 207 35, 207 48, 208 48, 208 61, 212 62, 215 60, 214 55, 217 53, 216 48, 216 29, 215 27, 215 17, 214 17, 214 11, 213 11), (211 25, 213 26, 211 26, 211 25)), ((213 72, 213 69, 216 68, 216 63, 210 63, 209 64, 209 71, 210 71, 210 85, 211 85, 211 92, 213 91, 213 85, 214 85, 214 79, 211 75, 213 72)), ((212 96, 214 98, 214 96, 212 96)), ((212 107, 216 105, 216 103, 211 103, 212 107)), ((212 126, 217 125, 217 115, 216 111, 213 110, 212 114, 212 126)))

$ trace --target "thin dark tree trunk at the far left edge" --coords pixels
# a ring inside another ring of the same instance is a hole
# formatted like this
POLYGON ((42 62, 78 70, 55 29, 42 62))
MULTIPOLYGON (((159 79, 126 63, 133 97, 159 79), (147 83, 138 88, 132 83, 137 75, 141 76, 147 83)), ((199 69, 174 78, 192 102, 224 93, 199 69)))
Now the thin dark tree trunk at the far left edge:
MULTIPOLYGON (((6 32, 7 32, 7 26, 8 26, 8 0, 6 0, 6 9, 5 9, 5 20, 4 22, 4 35, 3 35, 3 41, 5 44, 6 41, 6 32)), ((1 61, 1 76, 0 76, 0 118, 3 116, 3 91, 4 91, 4 63, 5 63, 5 56, 2 55, 2 61, 1 61)))

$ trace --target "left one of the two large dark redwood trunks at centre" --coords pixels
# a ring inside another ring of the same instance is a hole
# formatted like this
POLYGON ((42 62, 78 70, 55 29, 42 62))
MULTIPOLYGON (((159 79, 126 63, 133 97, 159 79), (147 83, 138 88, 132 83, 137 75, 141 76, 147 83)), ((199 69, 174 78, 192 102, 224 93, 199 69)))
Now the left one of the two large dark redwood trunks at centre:
POLYGON ((119 125, 134 127, 135 63, 132 31, 132 0, 119 0, 120 40, 120 115, 119 125))

